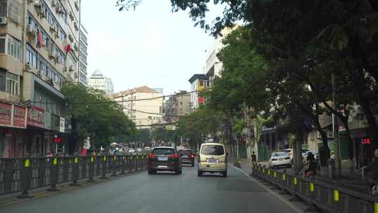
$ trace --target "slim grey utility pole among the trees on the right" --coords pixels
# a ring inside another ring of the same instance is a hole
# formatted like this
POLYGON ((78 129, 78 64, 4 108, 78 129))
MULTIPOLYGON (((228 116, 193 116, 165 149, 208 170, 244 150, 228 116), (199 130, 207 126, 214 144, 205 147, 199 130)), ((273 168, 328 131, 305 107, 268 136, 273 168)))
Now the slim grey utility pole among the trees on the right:
MULTIPOLYGON (((337 111, 337 103, 336 103, 336 85, 335 85, 335 74, 331 73, 331 81, 332 81, 332 108, 337 111)), ((333 137, 335 143, 335 176, 336 178, 341 177, 341 153, 340 153, 340 144, 339 144, 339 122, 337 116, 332 114, 332 129, 333 129, 333 137)))

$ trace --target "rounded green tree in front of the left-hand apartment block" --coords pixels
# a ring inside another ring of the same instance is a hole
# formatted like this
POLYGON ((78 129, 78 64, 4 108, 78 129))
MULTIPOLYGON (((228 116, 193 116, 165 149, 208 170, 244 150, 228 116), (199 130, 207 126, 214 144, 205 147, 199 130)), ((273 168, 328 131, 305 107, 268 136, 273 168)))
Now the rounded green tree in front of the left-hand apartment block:
POLYGON ((122 107, 101 90, 66 83, 62 93, 72 118, 73 134, 79 142, 90 137, 94 146, 107 146, 114 137, 129 135, 134 130, 134 123, 122 107))

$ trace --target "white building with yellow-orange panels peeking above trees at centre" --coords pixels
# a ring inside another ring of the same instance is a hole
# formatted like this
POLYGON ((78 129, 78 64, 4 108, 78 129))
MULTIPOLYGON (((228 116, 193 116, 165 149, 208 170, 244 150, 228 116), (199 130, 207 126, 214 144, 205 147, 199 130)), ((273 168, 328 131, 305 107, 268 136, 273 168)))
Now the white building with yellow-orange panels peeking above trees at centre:
POLYGON ((191 111, 195 111, 198 107, 204 105, 204 97, 198 95, 198 92, 204 90, 209 86, 209 77, 205 74, 194 74, 190 79, 190 102, 191 102, 191 111))

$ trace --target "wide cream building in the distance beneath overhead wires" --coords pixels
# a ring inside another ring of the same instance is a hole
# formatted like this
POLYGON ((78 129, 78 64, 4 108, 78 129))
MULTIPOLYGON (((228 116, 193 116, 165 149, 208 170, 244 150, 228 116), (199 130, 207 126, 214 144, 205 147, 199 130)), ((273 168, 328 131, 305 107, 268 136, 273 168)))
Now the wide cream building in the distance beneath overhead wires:
POLYGON ((125 115, 138 128, 151 128, 149 125, 162 123, 163 98, 156 90, 142 86, 113 93, 111 97, 123 106, 125 115))

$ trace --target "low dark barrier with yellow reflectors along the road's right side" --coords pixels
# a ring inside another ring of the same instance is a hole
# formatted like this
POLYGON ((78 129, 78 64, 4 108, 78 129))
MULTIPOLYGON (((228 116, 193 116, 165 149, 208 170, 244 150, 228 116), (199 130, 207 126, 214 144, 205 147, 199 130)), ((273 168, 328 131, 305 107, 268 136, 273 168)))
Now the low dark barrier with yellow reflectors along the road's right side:
POLYGON ((292 195, 290 200, 306 202, 308 212, 378 213, 377 197, 348 190, 339 184, 325 184, 316 177, 307 179, 300 174, 271 170, 256 163, 252 166, 252 174, 273 185, 280 194, 292 195))

